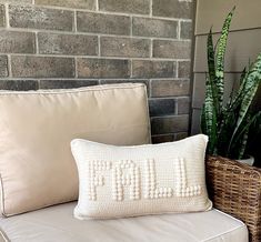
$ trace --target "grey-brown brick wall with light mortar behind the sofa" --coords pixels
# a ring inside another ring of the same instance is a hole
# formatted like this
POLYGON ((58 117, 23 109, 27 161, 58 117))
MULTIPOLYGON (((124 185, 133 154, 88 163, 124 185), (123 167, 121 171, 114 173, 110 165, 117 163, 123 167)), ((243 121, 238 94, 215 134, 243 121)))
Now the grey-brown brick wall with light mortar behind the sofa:
POLYGON ((148 87, 153 142, 188 135, 192 0, 0 0, 0 89, 148 87))

